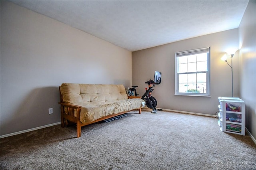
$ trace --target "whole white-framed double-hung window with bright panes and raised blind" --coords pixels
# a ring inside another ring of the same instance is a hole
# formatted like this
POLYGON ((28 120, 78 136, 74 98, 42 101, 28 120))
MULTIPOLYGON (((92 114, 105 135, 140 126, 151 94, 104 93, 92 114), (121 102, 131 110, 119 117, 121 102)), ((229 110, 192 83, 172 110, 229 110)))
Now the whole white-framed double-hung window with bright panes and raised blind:
POLYGON ((210 96, 210 47, 175 53, 175 95, 210 96))

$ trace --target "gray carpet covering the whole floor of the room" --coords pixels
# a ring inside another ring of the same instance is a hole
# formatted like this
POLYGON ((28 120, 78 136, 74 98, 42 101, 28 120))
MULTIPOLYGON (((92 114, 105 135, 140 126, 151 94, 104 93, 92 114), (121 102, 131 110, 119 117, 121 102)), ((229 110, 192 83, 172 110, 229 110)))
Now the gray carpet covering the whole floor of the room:
POLYGON ((220 131, 218 119, 168 111, 109 123, 60 125, 1 139, 1 170, 255 170, 250 136, 220 131))

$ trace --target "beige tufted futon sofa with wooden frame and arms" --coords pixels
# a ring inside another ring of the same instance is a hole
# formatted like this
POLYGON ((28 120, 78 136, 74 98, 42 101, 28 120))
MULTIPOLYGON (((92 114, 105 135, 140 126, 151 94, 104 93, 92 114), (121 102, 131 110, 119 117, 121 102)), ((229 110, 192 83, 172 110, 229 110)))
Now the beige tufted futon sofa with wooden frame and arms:
POLYGON ((60 89, 61 126, 76 123, 77 137, 81 127, 122 115, 145 106, 139 98, 128 99, 124 85, 62 83, 60 89))

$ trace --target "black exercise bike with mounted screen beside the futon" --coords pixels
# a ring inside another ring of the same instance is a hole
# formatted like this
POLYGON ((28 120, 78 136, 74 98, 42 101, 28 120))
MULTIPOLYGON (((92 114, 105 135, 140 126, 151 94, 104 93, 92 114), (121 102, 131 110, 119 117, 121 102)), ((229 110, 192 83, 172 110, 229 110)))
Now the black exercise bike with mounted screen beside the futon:
MULTIPOLYGON (((156 109, 157 101, 156 98, 152 96, 152 91, 154 90, 153 87, 156 85, 159 85, 161 83, 161 73, 158 71, 155 71, 155 77, 154 81, 149 80, 145 82, 148 84, 148 89, 146 89, 146 92, 142 95, 141 99, 143 99, 146 102, 146 106, 150 109, 152 109, 151 113, 156 113, 157 111, 162 111, 162 109, 156 109)), ((138 96, 139 94, 136 91, 136 87, 138 86, 132 86, 132 88, 128 88, 127 94, 130 96, 138 96)))

